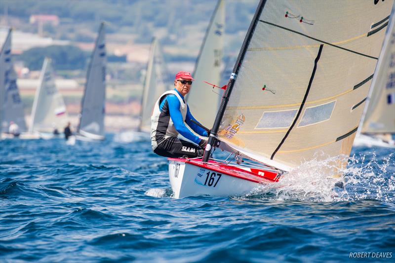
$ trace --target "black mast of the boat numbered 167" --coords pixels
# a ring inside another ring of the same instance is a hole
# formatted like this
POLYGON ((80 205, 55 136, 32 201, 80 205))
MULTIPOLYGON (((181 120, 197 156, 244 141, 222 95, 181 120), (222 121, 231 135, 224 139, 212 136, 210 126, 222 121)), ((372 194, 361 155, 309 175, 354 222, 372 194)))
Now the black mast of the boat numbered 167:
POLYGON ((235 80, 236 80, 236 77, 237 77, 237 73, 238 73, 238 71, 240 69, 241 63, 242 63, 242 61, 244 59, 245 52, 247 51, 248 44, 249 44, 249 42, 250 42, 250 40, 252 38, 252 35, 253 35, 254 31, 255 31, 255 27, 256 27, 256 25, 258 23, 259 17, 261 16, 261 13, 262 13, 262 10, 263 10, 263 7, 264 7, 265 3, 266 3, 266 0, 260 0, 259 1, 258 7, 257 7, 257 9, 255 11, 254 17, 253 17, 253 19, 251 21, 251 24, 250 24, 250 27, 248 28, 247 35, 244 38, 243 44, 241 46, 240 53, 238 54, 236 64, 235 64, 235 66, 233 68, 231 77, 229 78, 229 81, 228 81, 228 84, 227 84, 227 89, 225 90, 224 97, 222 98, 220 108, 219 108, 217 116, 215 118, 213 128, 211 129, 210 136, 208 138, 208 143, 207 143, 207 146, 206 146, 206 150, 204 151, 204 155, 203 155, 203 162, 207 162, 208 161, 208 159, 210 157, 210 154, 211 154, 211 151, 212 151, 213 147, 215 147, 214 144, 215 144, 217 132, 218 132, 219 126, 221 124, 221 120, 222 120, 222 117, 224 115, 226 106, 228 104, 229 96, 230 96, 230 94, 232 92, 232 88, 233 88, 233 85, 235 83, 235 80))

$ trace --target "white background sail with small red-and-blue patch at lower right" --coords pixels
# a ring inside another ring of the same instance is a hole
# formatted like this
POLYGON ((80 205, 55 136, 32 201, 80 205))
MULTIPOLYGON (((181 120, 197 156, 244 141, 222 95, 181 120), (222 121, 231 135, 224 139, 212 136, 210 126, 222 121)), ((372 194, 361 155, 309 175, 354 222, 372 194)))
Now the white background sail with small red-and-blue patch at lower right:
POLYGON ((53 78, 51 59, 45 58, 42 65, 39 87, 33 102, 29 132, 49 132, 56 128, 63 130, 68 121, 66 106, 58 92, 53 78))

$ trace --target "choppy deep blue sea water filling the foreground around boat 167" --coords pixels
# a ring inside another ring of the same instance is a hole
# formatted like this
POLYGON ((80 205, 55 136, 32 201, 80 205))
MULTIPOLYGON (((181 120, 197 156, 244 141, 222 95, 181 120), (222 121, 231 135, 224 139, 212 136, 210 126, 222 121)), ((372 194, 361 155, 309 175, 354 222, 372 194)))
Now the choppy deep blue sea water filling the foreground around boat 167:
POLYGON ((281 188, 173 199, 149 143, 1 141, 0 262, 394 262, 395 156, 352 155, 344 190, 313 161, 281 188))

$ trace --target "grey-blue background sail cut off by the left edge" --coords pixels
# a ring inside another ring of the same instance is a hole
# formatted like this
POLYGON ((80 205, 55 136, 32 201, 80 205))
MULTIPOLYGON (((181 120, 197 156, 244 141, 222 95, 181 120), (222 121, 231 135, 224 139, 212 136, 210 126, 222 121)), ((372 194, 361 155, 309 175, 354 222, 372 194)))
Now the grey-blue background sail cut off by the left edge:
POLYGON ((8 31, 0 54, 0 124, 2 132, 8 132, 11 121, 19 126, 20 132, 24 132, 26 131, 25 114, 11 58, 11 34, 12 29, 8 31))

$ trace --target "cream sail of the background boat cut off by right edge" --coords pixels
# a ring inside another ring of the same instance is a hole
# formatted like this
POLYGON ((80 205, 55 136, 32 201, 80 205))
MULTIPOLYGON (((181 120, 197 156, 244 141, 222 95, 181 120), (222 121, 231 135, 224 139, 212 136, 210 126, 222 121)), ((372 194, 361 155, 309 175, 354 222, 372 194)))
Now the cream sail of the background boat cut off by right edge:
POLYGON ((390 21, 373 76, 362 133, 395 133, 395 5, 387 19, 390 21))

